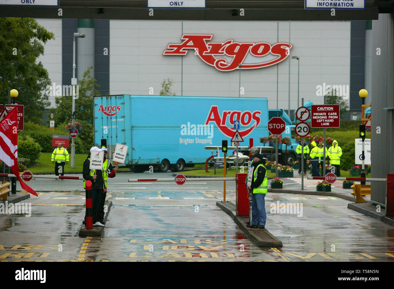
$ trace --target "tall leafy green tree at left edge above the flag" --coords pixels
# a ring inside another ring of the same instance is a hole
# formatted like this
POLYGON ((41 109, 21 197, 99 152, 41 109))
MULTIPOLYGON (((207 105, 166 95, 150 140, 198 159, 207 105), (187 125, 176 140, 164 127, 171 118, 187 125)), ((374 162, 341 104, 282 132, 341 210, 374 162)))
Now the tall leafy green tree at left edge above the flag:
POLYGON ((50 85, 48 71, 36 59, 44 54, 38 40, 46 43, 51 39, 55 39, 54 33, 33 18, 0 17, 0 102, 7 103, 9 88, 17 89, 17 101, 25 106, 25 121, 39 122, 49 105, 42 92, 50 85))

